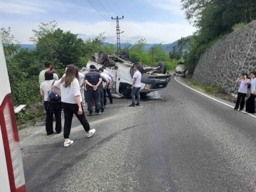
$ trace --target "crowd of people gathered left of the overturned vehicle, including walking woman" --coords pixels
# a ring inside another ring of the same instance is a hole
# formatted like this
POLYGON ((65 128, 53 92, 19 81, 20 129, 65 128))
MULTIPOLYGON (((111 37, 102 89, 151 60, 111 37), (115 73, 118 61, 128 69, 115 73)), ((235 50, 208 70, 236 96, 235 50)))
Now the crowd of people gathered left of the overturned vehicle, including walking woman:
POLYGON ((73 144, 69 139, 70 129, 73 116, 78 120, 85 129, 86 136, 92 137, 95 129, 90 129, 87 122, 83 106, 87 102, 89 116, 92 115, 93 106, 95 112, 101 114, 107 107, 107 95, 110 98, 110 104, 113 103, 111 87, 113 75, 100 68, 97 70, 95 65, 90 65, 90 71, 85 68, 80 71, 75 65, 68 65, 65 74, 60 80, 58 75, 53 73, 52 63, 45 63, 45 70, 39 74, 40 92, 43 96, 44 107, 46 110, 46 133, 53 134, 53 115, 55 116, 55 132, 60 134, 62 129, 61 112, 64 112, 64 146, 73 144), (50 95, 58 97, 57 103, 50 101, 50 95))

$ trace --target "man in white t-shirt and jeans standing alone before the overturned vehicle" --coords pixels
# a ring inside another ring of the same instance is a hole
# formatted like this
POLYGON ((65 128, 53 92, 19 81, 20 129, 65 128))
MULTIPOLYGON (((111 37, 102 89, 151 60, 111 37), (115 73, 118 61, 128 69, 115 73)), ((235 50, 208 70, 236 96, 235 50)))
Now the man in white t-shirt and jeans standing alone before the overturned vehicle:
POLYGON ((129 107, 135 107, 135 95, 137 95, 137 106, 139 106, 139 90, 142 87, 142 73, 139 72, 139 65, 134 65, 135 73, 132 81, 132 104, 129 107))

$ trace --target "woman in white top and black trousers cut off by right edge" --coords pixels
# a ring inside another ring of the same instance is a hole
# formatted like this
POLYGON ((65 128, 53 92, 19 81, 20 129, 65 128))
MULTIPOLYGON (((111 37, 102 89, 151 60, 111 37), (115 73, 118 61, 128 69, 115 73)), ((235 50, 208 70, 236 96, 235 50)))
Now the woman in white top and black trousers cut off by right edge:
POLYGON ((245 112, 255 114, 256 71, 250 73, 250 78, 250 97, 246 101, 245 112))

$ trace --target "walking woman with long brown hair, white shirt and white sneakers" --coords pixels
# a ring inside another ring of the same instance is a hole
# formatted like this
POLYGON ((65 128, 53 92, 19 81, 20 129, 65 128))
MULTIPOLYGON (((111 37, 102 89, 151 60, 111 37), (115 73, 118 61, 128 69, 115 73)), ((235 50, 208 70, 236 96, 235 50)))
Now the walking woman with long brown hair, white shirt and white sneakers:
POLYGON ((64 110, 64 146, 73 144, 69 139, 73 114, 78 117, 82 127, 85 129, 87 137, 92 137, 95 129, 90 129, 90 124, 85 118, 85 112, 82 109, 82 97, 80 92, 80 83, 78 68, 75 65, 68 65, 65 77, 61 78, 53 85, 53 90, 61 96, 64 110))

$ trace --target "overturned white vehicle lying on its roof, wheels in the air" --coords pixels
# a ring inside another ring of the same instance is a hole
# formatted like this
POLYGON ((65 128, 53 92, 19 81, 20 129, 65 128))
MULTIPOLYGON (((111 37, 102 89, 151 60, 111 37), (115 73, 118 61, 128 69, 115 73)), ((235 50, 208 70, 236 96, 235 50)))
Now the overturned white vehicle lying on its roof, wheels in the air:
POLYGON ((152 68, 144 66, 141 63, 129 62, 129 53, 122 51, 121 56, 107 55, 103 50, 95 53, 92 60, 89 60, 86 68, 89 70, 90 65, 95 65, 97 69, 105 66, 106 69, 114 76, 113 80, 113 97, 131 97, 132 96, 132 77, 134 75, 134 65, 140 65, 142 73, 142 88, 140 94, 147 95, 149 92, 161 90, 166 87, 171 80, 171 74, 166 73, 166 64, 159 63, 157 67, 152 68))

